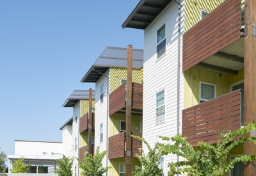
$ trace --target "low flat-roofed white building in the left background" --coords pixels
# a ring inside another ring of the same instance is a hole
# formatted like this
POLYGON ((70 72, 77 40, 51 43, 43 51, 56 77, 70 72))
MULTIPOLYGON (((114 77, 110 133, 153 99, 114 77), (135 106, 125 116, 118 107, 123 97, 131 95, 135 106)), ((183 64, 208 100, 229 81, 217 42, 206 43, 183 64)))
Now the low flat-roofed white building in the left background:
MULTIPOLYGON (((24 163, 30 164, 28 173, 52 173, 56 170, 55 159, 62 155, 61 142, 15 140, 15 154, 8 156, 11 163, 25 157, 24 163)), ((9 172, 12 164, 9 163, 9 172)))

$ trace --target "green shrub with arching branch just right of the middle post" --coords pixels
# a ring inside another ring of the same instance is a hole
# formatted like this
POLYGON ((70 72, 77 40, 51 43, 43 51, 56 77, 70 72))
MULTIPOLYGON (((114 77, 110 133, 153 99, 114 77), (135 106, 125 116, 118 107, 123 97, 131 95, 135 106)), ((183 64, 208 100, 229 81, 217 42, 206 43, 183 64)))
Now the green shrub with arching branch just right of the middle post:
POLYGON ((131 135, 132 138, 143 141, 147 145, 148 154, 146 155, 142 148, 139 148, 141 156, 136 155, 140 160, 141 167, 135 166, 135 172, 132 172, 134 176, 160 176, 163 173, 163 169, 159 168, 159 159, 162 157, 161 152, 157 150, 158 146, 156 145, 153 149, 150 148, 147 141, 139 136, 131 135))

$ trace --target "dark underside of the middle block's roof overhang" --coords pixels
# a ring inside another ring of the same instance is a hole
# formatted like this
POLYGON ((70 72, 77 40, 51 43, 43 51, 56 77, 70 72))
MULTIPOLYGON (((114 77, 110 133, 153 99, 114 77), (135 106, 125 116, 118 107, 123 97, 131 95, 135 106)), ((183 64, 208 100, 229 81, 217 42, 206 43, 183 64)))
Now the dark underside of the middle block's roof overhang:
POLYGON ((102 75, 108 71, 109 67, 91 67, 85 74, 81 83, 96 83, 102 75), (100 74, 102 73, 102 74, 100 74))

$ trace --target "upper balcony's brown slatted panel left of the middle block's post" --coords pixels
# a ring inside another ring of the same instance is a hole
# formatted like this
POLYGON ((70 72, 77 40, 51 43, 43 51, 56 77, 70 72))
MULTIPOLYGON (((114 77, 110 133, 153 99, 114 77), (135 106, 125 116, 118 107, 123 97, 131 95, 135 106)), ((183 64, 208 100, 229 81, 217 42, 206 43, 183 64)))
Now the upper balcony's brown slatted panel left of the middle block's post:
POLYGON ((125 83, 109 94, 109 115, 125 107, 125 83))

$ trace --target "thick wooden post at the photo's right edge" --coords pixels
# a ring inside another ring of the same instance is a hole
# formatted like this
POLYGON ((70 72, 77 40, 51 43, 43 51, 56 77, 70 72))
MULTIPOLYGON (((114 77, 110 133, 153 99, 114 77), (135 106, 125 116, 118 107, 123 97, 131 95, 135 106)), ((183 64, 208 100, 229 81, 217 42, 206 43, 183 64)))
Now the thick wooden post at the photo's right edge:
MULTIPOLYGON (((252 36, 252 26, 256 25, 256 1, 245 0, 244 9, 244 125, 256 122, 256 37, 252 36)), ((244 134, 245 137, 250 136, 244 134)), ((255 155, 254 143, 244 143, 244 155, 255 155)), ((255 162, 244 162, 244 175, 256 173, 255 162)))

